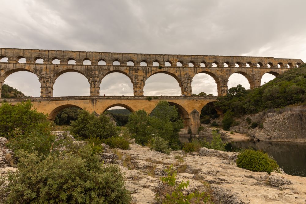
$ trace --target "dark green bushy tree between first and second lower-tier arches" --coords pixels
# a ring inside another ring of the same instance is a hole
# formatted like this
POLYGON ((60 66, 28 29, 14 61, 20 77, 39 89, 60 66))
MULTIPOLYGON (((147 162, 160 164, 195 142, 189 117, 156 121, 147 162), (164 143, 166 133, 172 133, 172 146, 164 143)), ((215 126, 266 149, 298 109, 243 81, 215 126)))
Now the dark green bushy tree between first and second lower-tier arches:
POLYGON ((118 136, 118 130, 110 115, 101 113, 96 117, 96 113, 89 113, 87 110, 80 110, 77 120, 71 122, 71 132, 81 139, 106 139, 118 136))

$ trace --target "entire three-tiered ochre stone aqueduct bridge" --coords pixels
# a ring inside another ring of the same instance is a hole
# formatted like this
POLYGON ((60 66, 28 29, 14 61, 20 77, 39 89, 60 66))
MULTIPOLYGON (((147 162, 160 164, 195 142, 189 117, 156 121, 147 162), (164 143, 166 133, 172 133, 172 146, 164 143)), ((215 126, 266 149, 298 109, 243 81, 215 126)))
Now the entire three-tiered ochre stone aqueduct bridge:
MULTIPOLYGON (((261 78, 265 73, 277 76, 290 68, 304 64, 301 59, 274 57, 132 54, 0 48, 0 60, 4 57, 7 57, 8 61, 0 63, 0 87, 2 87, 6 77, 14 72, 28 71, 34 73, 41 83, 42 98, 32 98, 31 100, 39 111, 49 113, 50 119, 54 118, 57 111, 68 106, 79 106, 99 113, 107 107, 114 106, 114 104, 121 104, 121 106, 132 111, 144 108, 151 112, 159 99, 145 100, 142 97, 143 89, 147 78, 157 73, 166 73, 173 76, 181 87, 181 94, 186 96, 192 94, 192 78, 198 73, 206 73, 214 78, 218 96, 221 96, 226 95, 227 82, 233 73, 245 76, 250 83, 250 87, 254 88, 260 86, 261 78), (26 63, 18 63, 21 58, 25 58, 26 63), (38 59, 42 59, 43 64, 36 63, 38 59), (59 61, 59 64, 54 64, 54 60, 59 61), (75 64, 69 64, 72 60, 75 61, 75 64), (85 61, 90 61, 91 64, 85 65, 85 61), (55 80, 65 72, 83 74, 90 84, 91 97, 52 97, 55 80), (113 72, 120 72, 129 77, 133 84, 134 97, 99 97, 100 83, 103 77, 113 72)), ((185 125, 192 126, 193 130, 196 130, 199 126, 199 112, 202 107, 215 100, 214 97, 166 97, 163 99, 172 102, 179 108, 185 119, 185 125)), ((20 99, 9 99, 7 101, 15 103, 20 99)))

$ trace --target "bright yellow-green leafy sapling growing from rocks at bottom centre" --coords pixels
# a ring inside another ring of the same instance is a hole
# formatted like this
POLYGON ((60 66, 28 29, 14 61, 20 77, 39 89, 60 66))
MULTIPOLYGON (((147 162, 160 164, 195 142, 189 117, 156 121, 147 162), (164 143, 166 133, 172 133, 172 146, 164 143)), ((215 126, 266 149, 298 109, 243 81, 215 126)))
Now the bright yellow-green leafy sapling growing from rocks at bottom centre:
POLYGON ((185 182, 182 180, 177 184, 176 175, 177 172, 173 170, 173 165, 166 170, 168 176, 160 177, 162 182, 167 183, 173 188, 171 194, 166 194, 166 198, 163 200, 163 204, 190 204, 190 203, 206 203, 209 196, 206 196, 205 192, 189 193, 188 195, 183 194, 183 190, 189 186, 189 181, 185 182))

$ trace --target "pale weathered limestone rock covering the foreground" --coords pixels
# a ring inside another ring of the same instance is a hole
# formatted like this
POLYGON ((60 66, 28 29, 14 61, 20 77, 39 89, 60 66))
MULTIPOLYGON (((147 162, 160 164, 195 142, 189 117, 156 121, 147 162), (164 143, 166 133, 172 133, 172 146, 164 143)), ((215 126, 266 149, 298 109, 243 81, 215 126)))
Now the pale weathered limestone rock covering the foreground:
MULTIPOLYGON (((0 176, 15 171, 0 137, 0 176)), ((238 153, 201 148, 199 152, 184 154, 182 150, 170 155, 150 151, 148 147, 130 144, 129 150, 109 149, 100 153, 106 165, 116 164, 124 172, 125 186, 131 191, 132 203, 159 203, 156 195, 164 195, 167 185, 160 181, 173 164, 177 182, 189 180, 185 194, 208 192, 215 203, 306 203, 306 177, 285 173, 251 172, 238 168, 238 153)))

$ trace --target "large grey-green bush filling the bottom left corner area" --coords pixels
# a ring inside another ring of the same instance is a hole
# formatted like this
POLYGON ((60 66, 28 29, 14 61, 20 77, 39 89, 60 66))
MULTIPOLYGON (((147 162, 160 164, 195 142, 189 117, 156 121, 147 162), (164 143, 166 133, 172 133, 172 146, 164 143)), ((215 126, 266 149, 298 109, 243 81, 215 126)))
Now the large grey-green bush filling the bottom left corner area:
POLYGON ((23 152, 18 171, 9 174, 5 203, 130 202, 118 167, 103 167, 88 148, 78 155, 42 159, 36 153, 23 152))

